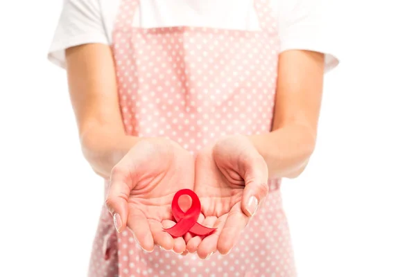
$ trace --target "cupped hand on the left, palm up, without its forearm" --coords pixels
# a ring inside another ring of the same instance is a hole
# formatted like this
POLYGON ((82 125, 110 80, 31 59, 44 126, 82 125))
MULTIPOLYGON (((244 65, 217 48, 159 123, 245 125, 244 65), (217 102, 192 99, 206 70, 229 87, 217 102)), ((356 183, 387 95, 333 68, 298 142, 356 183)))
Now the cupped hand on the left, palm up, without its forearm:
POLYGON ((114 167, 107 193, 107 208, 117 231, 128 228, 146 251, 155 245, 182 253, 184 238, 172 238, 164 229, 172 221, 173 195, 193 188, 194 159, 168 139, 143 139, 114 167))

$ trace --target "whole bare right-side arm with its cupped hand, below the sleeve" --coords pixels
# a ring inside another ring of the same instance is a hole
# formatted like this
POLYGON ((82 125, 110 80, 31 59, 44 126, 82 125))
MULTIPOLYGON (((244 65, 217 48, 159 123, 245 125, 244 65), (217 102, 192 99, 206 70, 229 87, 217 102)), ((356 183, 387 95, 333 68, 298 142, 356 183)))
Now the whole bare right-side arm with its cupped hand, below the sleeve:
POLYGON ((200 258, 215 251, 228 253, 252 215, 247 205, 250 195, 261 203, 268 193, 268 177, 297 177, 313 152, 323 55, 287 51, 280 55, 278 70, 272 132, 220 139, 198 153, 194 190, 201 199, 202 224, 217 228, 207 238, 185 236, 187 250, 200 258))

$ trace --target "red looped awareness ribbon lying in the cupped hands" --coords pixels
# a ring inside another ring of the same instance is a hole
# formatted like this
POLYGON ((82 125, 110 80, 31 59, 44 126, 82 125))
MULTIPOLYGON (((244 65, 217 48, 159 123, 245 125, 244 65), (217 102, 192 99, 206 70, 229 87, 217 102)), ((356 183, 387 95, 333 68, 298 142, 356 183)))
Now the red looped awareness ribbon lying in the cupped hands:
POLYGON ((198 217, 201 212, 201 202, 198 195, 192 190, 185 188, 177 191, 173 196, 172 200, 172 214, 175 217, 176 224, 171 228, 164 229, 164 231, 171 234, 174 238, 182 237, 187 232, 193 233, 194 235, 209 235, 216 230, 216 228, 208 228, 202 226, 198 222, 198 217), (192 199, 191 208, 185 213, 179 206, 179 197, 182 195, 189 195, 192 199))

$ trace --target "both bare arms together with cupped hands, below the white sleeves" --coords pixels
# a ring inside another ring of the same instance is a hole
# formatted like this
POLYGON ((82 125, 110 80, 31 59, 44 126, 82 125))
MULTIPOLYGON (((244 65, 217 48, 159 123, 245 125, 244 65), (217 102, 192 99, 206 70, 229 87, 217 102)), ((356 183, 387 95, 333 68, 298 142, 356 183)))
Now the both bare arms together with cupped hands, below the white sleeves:
POLYGON ((87 44, 67 50, 69 91, 80 144, 93 170, 110 178, 106 202, 119 231, 132 230, 146 251, 159 245, 207 258, 212 252, 225 254, 234 247, 252 216, 250 196, 261 204, 268 193, 269 177, 299 176, 315 147, 324 57, 311 51, 285 51, 279 56, 277 70, 272 132, 220 139, 193 161, 172 141, 125 136, 110 47, 87 44), (170 158, 162 164, 148 163, 149 157, 166 155, 170 158), (195 176, 185 180, 189 168, 195 176), (150 173, 142 178, 144 172, 150 173), (173 184, 168 179, 182 182, 173 184), (187 234, 174 239, 162 231, 162 226, 174 224, 169 220, 168 199, 181 188, 196 191, 202 204, 199 222, 218 228, 213 235, 192 238, 187 234))

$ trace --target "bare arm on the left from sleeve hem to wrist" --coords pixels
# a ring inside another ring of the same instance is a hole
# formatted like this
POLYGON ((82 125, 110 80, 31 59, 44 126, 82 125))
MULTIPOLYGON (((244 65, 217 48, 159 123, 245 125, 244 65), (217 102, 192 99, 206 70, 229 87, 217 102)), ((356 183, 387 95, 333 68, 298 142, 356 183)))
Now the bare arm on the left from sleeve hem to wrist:
POLYGON ((110 47, 85 44, 69 48, 66 56, 69 92, 83 154, 94 171, 107 178, 138 140, 125 136, 110 47))

